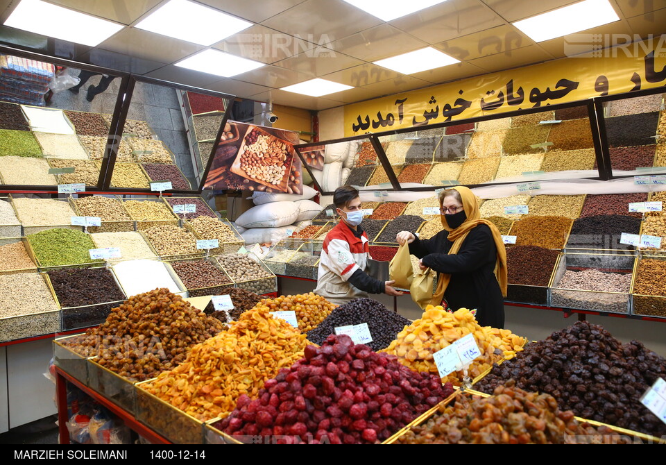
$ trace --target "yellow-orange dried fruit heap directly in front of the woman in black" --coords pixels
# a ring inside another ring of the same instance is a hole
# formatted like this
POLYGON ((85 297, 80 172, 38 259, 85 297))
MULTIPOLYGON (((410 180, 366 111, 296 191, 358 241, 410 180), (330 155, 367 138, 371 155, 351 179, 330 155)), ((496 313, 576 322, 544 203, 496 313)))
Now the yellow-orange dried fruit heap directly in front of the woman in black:
MULTIPOLYGON (((428 305, 420 319, 405 326, 384 352, 396 355, 400 363, 409 369, 438 374, 432 355, 468 334, 474 335, 481 351, 481 355, 468 367, 471 378, 476 378, 499 360, 511 359, 527 342, 509 330, 479 326, 472 312, 466 308, 449 313, 441 306, 428 305)), ((459 386, 463 375, 463 370, 454 371, 442 378, 442 382, 459 386)))

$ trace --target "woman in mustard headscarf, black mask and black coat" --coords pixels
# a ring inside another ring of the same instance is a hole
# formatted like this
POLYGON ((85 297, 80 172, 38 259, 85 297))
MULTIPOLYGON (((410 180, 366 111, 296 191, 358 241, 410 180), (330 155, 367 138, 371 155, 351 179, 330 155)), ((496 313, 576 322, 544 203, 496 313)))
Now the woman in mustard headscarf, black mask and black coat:
POLYGON ((439 204, 443 231, 427 240, 402 231, 398 244, 409 244, 421 269, 438 273, 432 305, 445 298, 452 310, 477 309, 481 326, 503 328, 506 250, 499 230, 481 219, 477 198, 467 187, 443 190, 439 204))

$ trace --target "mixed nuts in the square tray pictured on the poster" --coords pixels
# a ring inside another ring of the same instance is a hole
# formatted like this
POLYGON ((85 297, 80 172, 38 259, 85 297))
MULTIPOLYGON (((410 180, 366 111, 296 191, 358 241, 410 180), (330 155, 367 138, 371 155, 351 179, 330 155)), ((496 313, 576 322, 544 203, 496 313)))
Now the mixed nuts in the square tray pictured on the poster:
POLYGON ((287 146, 269 135, 252 130, 245 136, 245 151, 241 155, 241 169, 250 178, 274 186, 280 185, 287 173, 287 146))

